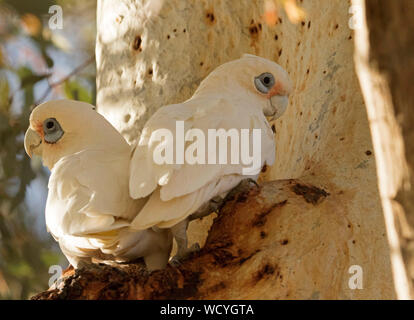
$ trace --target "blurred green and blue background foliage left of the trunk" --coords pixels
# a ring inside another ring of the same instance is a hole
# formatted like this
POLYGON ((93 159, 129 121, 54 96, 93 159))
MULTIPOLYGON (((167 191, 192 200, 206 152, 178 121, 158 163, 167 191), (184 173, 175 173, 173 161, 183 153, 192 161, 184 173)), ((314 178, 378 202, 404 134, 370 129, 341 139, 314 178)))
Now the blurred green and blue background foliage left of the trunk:
POLYGON ((95 103, 96 1, 0 0, 0 299, 48 288, 67 261, 46 231, 49 172, 23 147, 31 110, 51 99, 95 103), (52 5, 63 28, 51 30, 52 5))

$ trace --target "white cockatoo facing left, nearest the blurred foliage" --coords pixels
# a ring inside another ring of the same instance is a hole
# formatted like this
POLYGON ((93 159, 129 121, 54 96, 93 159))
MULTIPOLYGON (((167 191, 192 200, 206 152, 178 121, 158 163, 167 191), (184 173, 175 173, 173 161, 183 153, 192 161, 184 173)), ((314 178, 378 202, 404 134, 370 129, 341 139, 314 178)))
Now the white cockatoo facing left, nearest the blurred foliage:
POLYGON ((132 230, 147 199, 129 196, 132 149, 90 104, 57 100, 30 116, 25 149, 51 170, 46 225, 76 268, 91 259, 143 257, 149 270, 168 263, 168 230, 132 230))

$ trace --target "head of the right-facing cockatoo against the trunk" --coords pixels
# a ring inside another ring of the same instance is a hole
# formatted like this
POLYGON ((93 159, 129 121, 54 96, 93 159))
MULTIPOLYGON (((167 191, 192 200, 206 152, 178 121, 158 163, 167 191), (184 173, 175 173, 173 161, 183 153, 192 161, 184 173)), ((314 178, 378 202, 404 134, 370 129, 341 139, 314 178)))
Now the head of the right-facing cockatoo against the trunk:
MULTIPOLYGON (((215 69, 201 84, 198 91, 208 90, 214 84, 222 90, 244 90, 261 101, 265 116, 274 120, 282 116, 293 90, 287 72, 277 63, 251 54, 225 63, 215 69)), ((237 91, 232 94, 237 95, 237 91)))

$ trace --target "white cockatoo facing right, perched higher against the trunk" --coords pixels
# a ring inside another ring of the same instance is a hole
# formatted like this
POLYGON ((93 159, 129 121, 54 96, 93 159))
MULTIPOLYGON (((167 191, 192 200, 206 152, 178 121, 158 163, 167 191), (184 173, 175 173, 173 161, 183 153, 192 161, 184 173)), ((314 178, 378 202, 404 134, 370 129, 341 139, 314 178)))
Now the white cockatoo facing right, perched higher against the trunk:
POLYGON ((171 228, 178 245, 174 257, 176 262, 197 250, 197 244, 188 248, 186 230, 189 221, 215 211, 221 199, 242 180, 257 180, 262 166, 273 164, 274 135, 266 117, 276 119, 284 113, 291 90, 292 83, 281 66, 246 54, 216 68, 189 100, 160 108, 144 126, 131 160, 131 197, 149 196, 131 226, 138 230, 171 228), (184 122, 185 133, 177 131, 180 121, 184 122), (210 141, 197 142, 198 146, 207 149, 201 155, 204 163, 189 163, 183 161, 182 155, 177 156, 179 151, 175 148, 178 145, 181 151, 184 147, 186 152, 191 150, 192 153, 197 148, 191 146, 191 142, 208 137, 211 129, 224 129, 226 132, 236 129, 239 137, 243 135, 241 130, 249 129, 250 140, 241 140, 241 149, 243 145, 252 147, 252 129, 259 129, 259 161, 253 165, 242 161, 230 162, 230 157, 238 152, 230 151, 228 147, 222 150, 228 155, 227 163, 211 164, 206 160, 208 155, 219 153, 220 148, 213 146, 213 149, 208 149, 210 141), (160 138, 160 130, 169 130, 172 139, 167 135, 160 138), (160 150, 170 154, 171 142, 176 152, 175 162, 156 160, 154 155, 160 150))

